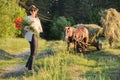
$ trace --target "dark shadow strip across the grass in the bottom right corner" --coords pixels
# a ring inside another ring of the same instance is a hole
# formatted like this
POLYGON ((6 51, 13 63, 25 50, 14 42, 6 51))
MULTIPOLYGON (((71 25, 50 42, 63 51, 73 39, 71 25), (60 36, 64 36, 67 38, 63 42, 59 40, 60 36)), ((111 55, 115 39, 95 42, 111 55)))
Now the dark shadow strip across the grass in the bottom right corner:
POLYGON ((79 75, 79 77, 86 80, 120 80, 120 69, 103 69, 98 72, 91 70, 86 74, 79 75))

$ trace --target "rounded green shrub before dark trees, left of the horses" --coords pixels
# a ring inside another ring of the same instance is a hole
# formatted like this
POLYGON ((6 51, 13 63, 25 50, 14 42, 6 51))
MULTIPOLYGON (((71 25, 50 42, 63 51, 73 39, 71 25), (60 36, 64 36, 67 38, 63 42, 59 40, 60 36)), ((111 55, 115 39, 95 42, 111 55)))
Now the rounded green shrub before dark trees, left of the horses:
POLYGON ((70 25, 71 22, 68 21, 64 16, 55 17, 50 28, 51 38, 56 40, 62 39, 64 27, 70 25))

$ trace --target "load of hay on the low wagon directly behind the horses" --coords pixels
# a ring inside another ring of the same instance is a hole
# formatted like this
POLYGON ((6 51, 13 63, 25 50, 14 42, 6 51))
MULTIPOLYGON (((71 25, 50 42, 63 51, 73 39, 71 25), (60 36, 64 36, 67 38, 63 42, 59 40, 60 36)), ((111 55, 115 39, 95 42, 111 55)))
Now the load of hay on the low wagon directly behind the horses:
POLYGON ((79 28, 79 27, 86 27, 89 31, 89 42, 93 43, 96 41, 97 37, 102 34, 103 28, 96 24, 77 24, 73 27, 79 28))

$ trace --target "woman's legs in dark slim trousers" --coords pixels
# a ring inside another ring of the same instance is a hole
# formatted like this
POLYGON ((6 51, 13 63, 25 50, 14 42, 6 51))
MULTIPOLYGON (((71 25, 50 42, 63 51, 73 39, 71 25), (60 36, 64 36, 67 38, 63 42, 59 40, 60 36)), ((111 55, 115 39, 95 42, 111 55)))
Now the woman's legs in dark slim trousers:
POLYGON ((32 41, 30 42, 31 53, 26 63, 26 67, 28 68, 28 70, 32 70, 33 61, 35 59, 35 54, 37 53, 37 49, 38 49, 38 38, 35 35, 33 35, 32 41))

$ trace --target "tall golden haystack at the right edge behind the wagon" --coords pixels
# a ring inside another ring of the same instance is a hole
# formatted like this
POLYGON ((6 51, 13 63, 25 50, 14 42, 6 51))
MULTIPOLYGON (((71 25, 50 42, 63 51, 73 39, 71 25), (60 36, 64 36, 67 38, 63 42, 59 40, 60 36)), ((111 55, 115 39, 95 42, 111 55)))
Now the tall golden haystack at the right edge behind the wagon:
POLYGON ((112 41, 120 41, 120 13, 113 8, 105 10, 101 14, 101 23, 105 38, 112 41))

